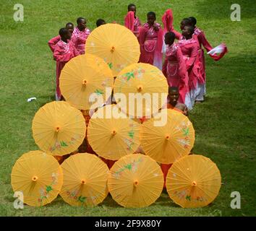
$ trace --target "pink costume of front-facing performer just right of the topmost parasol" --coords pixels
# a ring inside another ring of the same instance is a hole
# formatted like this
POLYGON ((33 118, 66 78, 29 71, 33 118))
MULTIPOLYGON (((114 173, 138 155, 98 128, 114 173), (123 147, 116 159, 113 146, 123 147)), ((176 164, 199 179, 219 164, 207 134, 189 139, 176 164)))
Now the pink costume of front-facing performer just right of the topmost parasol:
POLYGON ((140 62, 157 66, 162 70, 163 30, 160 24, 155 23, 155 26, 158 30, 148 23, 140 27, 140 62))

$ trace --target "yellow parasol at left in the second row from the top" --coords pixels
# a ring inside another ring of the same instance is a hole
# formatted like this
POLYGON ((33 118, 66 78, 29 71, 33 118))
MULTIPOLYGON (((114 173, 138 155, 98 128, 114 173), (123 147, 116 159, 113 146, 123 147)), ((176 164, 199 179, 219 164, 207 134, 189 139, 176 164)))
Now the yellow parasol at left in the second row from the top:
POLYGON ((106 97, 111 95, 113 76, 102 58, 85 54, 72 58, 64 66, 59 82, 61 94, 67 102, 78 109, 89 110, 98 108, 108 100, 106 97), (106 87, 110 88, 109 93, 106 93, 106 87), (103 100, 98 106, 90 103, 93 93, 103 100))

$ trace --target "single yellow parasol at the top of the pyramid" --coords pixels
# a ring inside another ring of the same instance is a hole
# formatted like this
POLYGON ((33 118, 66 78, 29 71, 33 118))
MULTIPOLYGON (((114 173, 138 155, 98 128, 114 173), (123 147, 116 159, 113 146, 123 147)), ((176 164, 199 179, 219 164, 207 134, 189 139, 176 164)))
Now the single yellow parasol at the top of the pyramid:
POLYGON ((86 40, 85 51, 103 58, 114 76, 140 58, 140 44, 136 36, 118 24, 108 23, 93 30, 86 40))

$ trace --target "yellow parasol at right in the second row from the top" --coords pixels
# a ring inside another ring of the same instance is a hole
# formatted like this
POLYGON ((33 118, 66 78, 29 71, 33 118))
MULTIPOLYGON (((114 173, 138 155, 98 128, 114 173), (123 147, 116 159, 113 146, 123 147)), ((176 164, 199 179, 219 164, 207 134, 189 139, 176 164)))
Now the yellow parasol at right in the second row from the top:
POLYGON ((116 103, 131 118, 150 118, 166 103, 166 77, 150 64, 132 64, 119 72, 114 84, 116 103), (125 95, 126 100, 117 93, 125 95))

